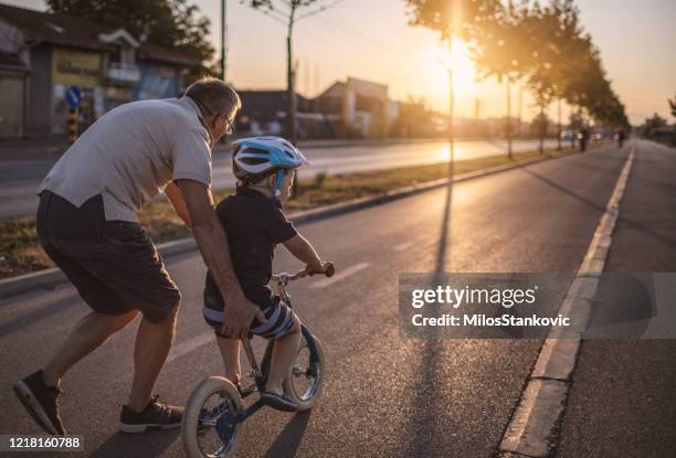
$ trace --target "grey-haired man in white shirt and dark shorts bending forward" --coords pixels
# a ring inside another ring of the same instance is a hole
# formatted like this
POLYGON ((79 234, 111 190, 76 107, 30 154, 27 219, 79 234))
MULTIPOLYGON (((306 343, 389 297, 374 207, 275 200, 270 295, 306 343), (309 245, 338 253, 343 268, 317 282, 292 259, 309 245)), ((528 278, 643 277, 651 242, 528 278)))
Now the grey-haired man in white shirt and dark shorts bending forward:
POLYGON ((63 375, 139 312, 134 380, 120 429, 180 426, 182 408, 151 393, 171 347, 181 297, 137 217, 162 190, 192 228, 230 307, 225 331, 243 338, 254 319, 264 320, 242 294, 210 192, 211 149, 232 132, 240 107, 234 89, 214 78, 194 83, 178 99, 123 105, 94 123, 41 184, 40 242, 92 308, 55 355, 14 385, 46 432, 65 434, 59 407, 63 375))

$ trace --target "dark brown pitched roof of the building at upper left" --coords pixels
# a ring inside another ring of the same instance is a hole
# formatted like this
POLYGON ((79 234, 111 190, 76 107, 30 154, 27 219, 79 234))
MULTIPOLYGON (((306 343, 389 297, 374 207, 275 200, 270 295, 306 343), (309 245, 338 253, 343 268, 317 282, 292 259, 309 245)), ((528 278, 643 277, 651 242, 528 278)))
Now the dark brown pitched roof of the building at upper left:
POLYGON ((86 18, 70 14, 46 13, 0 3, 0 19, 20 29, 27 40, 33 43, 54 43, 66 46, 110 51, 114 46, 107 39, 126 39, 138 46, 141 58, 181 65, 196 65, 191 56, 154 43, 136 41, 124 29, 99 24, 86 18))

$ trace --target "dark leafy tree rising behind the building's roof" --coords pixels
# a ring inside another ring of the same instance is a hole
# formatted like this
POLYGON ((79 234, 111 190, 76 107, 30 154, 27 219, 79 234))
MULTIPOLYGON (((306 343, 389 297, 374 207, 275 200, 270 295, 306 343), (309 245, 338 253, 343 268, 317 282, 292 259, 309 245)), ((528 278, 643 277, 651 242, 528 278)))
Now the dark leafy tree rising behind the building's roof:
POLYGON ((171 47, 200 62, 187 82, 213 73, 210 21, 188 0, 46 0, 51 12, 78 15, 119 26, 135 38, 171 47))

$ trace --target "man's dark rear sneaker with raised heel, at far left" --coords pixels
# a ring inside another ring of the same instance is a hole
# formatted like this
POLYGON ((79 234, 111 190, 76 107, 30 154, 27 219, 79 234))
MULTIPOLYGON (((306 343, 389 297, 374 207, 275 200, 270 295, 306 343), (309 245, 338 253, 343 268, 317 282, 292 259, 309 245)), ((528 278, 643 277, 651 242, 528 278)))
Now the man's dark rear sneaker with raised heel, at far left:
POLYGON ((49 434, 65 436, 59 408, 59 398, 63 396, 63 391, 45 385, 42 370, 17 382, 14 393, 42 429, 49 434))

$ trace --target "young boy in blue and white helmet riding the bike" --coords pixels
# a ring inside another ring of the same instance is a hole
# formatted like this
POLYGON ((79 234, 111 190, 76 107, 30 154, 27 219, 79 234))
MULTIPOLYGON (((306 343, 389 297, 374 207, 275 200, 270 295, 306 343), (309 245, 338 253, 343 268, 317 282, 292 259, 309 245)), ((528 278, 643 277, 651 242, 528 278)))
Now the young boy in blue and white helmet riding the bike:
MULTIPOLYGON (((293 364, 300 341, 300 321, 293 310, 274 296, 267 284, 276 244, 306 264, 305 273, 325 273, 327 264, 284 215, 282 203, 292 193, 295 169, 308 163, 300 151, 278 137, 254 137, 233 145, 232 169, 239 180, 236 194, 216 206, 216 214, 230 246, 232 264, 249 300, 261 307, 265 322, 254 319, 251 331, 274 339, 271 369, 262 400, 270 406, 293 411, 284 397, 282 383, 293 364)), ((240 341, 221 331, 228 320, 228 306, 210 274, 204 288, 204 319, 214 328, 225 377, 239 386, 240 341)))

